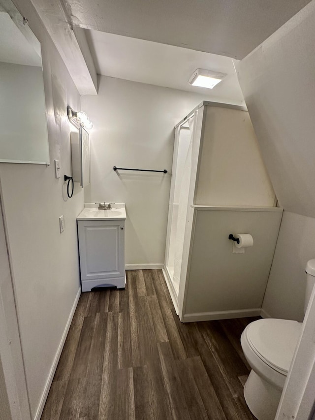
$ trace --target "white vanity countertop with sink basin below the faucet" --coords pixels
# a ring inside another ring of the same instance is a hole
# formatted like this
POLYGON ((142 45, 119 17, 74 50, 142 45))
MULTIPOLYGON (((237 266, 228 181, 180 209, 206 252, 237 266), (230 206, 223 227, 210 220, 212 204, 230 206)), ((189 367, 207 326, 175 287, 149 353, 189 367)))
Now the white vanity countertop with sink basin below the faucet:
POLYGON ((112 204, 111 209, 98 210, 98 204, 86 203, 77 220, 126 220, 124 203, 112 204))

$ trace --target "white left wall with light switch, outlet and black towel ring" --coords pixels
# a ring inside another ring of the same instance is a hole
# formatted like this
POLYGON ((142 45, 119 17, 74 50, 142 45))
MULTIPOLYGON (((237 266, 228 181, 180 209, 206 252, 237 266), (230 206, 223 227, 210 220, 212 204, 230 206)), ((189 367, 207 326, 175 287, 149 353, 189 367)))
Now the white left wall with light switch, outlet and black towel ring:
MULTIPOLYGON (((78 109, 80 97, 32 4, 15 3, 42 43, 50 159, 60 159, 63 177, 71 173, 66 105, 78 109)), ((73 197, 66 200, 63 178, 55 179, 54 172, 53 164, 0 164, 32 418, 80 286, 75 218, 83 208, 84 194, 76 186, 73 197), (66 228, 60 234, 62 214, 66 228)))

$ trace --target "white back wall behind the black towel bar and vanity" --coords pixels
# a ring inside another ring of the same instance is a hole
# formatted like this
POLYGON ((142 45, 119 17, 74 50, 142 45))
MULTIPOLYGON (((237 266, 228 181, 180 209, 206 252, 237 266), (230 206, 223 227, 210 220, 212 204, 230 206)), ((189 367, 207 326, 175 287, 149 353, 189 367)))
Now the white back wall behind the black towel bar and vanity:
POLYGON ((94 124, 85 199, 126 203, 126 264, 164 262, 174 126, 207 99, 105 76, 99 76, 97 97, 81 97, 94 124), (114 165, 169 172, 114 172, 114 165))

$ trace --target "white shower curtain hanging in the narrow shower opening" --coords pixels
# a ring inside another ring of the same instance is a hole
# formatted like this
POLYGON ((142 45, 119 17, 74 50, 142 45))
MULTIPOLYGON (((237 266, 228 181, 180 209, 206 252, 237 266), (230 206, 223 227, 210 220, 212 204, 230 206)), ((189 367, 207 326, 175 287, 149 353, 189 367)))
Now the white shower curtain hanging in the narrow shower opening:
POLYGON ((184 234, 187 218, 187 207, 189 197, 189 185, 190 185, 190 174, 191 174, 191 151, 192 151, 192 139, 193 139, 193 120, 194 117, 189 118, 188 125, 190 131, 190 143, 187 151, 187 156, 184 165, 184 175, 181 182, 181 191, 179 197, 178 206, 178 218, 176 228, 176 242, 175 242, 175 259, 174 259, 174 275, 173 284, 178 293, 179 281, 181 276, 182 257, 184 249, 184 234))

